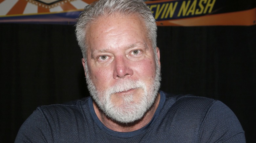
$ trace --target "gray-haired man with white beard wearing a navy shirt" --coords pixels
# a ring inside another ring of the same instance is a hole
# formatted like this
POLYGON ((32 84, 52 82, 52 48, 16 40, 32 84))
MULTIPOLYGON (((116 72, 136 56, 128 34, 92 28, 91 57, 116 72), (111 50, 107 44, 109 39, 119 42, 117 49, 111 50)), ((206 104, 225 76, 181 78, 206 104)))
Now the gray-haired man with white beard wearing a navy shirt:
POLYGON ((16 142, 245 142, 223 103, 159 91, 157 27, 142 0, 100 0, 76 36, 91 97, 38 107, 16 142))

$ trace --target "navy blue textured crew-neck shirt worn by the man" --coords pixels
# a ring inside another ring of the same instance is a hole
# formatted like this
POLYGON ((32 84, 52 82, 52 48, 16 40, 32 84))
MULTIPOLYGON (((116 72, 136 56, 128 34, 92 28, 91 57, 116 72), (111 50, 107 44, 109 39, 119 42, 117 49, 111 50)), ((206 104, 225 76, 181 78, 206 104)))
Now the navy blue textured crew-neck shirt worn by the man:
POLYGON ((235 114, 222 102, 160 91, 152 120, 133 132, 108 129, 97 118, 91 97, 38 107, 15 142, 245 142, 235 114))

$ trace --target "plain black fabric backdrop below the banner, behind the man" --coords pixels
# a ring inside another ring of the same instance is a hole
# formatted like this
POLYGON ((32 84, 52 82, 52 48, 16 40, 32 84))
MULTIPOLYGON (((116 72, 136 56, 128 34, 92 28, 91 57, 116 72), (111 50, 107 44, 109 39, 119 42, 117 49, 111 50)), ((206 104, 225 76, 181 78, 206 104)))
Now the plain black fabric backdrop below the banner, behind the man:
MULTIPOLYGON (((74 25, 0 24, 1 141, 40 105, 88 96, 74 25)), ((256 26, 159 27, 161 90, 214 98, 255 142, 256 26)))

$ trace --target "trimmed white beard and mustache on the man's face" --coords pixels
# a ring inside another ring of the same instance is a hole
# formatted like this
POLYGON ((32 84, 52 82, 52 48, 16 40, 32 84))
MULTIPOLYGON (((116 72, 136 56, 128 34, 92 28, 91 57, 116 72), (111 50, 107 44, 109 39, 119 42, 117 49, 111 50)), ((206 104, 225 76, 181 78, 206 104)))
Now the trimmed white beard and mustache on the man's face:
MULTIPOLYGON (((86 67, 87 69, 87 67, 86 67)), ((141 119, 149 108, 154 104, 160 88, 160 66, 156 62, 156 75, 151 84, 146 85, 142 81, 133 81, 130 79, 120 79, 117 83, 103 91, 97 91, 92 82, 89 73, 86 74, 87 87, 98 107, 110 118, 120 123, 131 123, 141 119), (142 89, 139 101, 134 100, 137 95, 122 96, 121 105, 115 105, 111 102, 111 96, 115 93, 128 91, 130 89, 142 89)))

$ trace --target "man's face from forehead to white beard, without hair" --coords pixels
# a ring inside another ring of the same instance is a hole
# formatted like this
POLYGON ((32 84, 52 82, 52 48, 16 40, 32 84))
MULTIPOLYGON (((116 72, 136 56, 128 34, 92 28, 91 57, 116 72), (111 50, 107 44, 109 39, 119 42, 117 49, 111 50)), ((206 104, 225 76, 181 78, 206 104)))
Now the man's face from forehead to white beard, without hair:
MULTIPOLYGON (((157 56, 136 16, 99 18, 87 29, 88 89, 111 119, 129 123, 143 117, 160 87, 157 56)), ((86 63, 85 63, 86 64, 86 63)))

